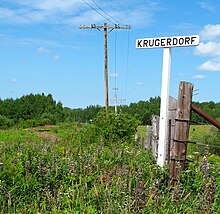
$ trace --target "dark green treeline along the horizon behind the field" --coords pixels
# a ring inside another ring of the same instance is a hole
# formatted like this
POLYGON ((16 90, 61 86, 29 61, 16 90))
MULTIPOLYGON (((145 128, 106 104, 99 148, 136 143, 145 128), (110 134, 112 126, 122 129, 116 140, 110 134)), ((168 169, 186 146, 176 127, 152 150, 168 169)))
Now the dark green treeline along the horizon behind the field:
MULTIPOLYGON (((220 120, 220 103, 210 101, 195 104, 213 118, 220 120)), ((0 128, 24 128, 60 122, 90 123, 99 111, 104 110, 105 108, 99 105, 91 105, 84 109, 66 108, 61 102, 56 102, 51 94, 30 94, 17 99, 0 99, 0 128)), ((110 107, 109 110, 114 111, 114 107, 110 107)), ((118 106, 118 112, 130 114, 141 124, 150 125, 152 115, 160 114, 160 97, 118 106)), ((196 114, 193 114, 192 120, 207 123, 196 114)))

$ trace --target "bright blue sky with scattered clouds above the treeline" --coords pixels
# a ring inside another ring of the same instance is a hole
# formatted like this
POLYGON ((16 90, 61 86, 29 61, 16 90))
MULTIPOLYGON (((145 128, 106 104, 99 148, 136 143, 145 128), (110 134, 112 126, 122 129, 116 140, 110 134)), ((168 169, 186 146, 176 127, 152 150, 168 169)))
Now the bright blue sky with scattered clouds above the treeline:
POLYGON ((180 81, 193 101, 220 102, 219 0, 1 0, 0 98, 52 94, 69 108, 105 105, 103 29, 108 32, 109 103, 129 105, 160 96, 163 49, 137 49, 136 39, 199 35, 174 47, 170 95, 180 81), (117 90, 114 90, 117 89, 117 90))

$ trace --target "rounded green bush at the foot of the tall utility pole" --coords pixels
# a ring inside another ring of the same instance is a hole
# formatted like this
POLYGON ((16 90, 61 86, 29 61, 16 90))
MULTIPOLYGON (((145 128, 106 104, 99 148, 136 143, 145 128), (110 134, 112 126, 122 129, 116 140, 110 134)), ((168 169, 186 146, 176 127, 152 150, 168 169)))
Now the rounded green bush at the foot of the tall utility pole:
POLYGON ((94 125, 104 143, 132 142, 139 122, 125 113, 100 112, 94 125))

